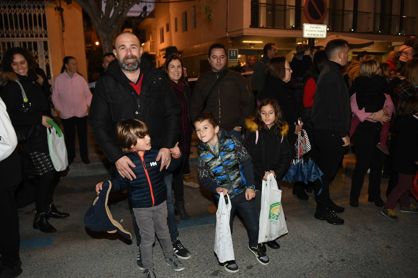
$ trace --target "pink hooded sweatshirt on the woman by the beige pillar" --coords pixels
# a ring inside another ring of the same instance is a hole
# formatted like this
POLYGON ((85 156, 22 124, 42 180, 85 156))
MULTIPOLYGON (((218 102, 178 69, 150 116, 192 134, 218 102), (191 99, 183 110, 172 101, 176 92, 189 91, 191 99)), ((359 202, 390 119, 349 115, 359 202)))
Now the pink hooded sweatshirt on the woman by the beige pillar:
POLYGON ((87 116, 91 102, 92 93, 81 75, 74 73, 71 78, 64 70, 56 77, 52 90, 52 103, 62 119, 87 116))

